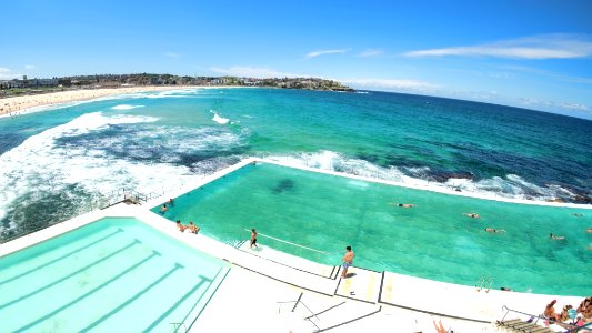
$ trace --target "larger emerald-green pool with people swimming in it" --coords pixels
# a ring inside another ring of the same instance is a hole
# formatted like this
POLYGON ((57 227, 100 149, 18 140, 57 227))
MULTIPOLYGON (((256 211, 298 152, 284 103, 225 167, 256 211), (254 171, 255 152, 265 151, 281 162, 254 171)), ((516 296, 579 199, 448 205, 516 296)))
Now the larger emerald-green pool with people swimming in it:
POLYGON ((354 265, 375 271, 464 285, 485 275, 498 289, 592 293, 592 211, 585 209, 479 200, 257 163, 177 198, 164 216, 192 220, 203 234, 231 244, 257 228, 320 252, 260 236, 263 246, 331 265, 352 245, 354 265), (551 240, 550 232, 565 240, 551 240))

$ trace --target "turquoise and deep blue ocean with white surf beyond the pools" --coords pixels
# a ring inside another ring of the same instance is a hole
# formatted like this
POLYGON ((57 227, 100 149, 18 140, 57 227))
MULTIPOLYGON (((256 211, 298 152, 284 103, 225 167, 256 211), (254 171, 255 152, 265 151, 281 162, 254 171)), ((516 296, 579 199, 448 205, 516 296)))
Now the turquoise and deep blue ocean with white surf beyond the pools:
POLYGON ((0 118, 0 233, 267 158, 492 198, 592 202, 592 121, 411 94, 187 89, 0 118))

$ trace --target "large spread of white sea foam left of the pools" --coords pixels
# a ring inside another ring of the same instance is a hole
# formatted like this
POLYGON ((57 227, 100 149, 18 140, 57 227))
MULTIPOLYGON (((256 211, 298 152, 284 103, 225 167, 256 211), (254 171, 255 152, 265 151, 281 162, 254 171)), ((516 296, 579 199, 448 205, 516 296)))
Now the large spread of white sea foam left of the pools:
MULTIPOLYGON (((0 219, 6 216, 14 200, 27 200, 23 199, 26 194, 64 193, 69 185, 77 185, 88 193, 106 194, 122 186, 147 192, 162 191, 180 186, 191 179, 197 180, 198 176, 187 167, 133 162, 109 155, 100 148, 57 144, 60 138, 100 131, 110 124, 155 120, 152 117, 88 113, 32 135, 4 152, 0 155, 0 219)), ((14 228, 16 223, 18 221, 10 220, 8 228, 14 228)), ((0 226, 0 232, 2 229, 0 226)))

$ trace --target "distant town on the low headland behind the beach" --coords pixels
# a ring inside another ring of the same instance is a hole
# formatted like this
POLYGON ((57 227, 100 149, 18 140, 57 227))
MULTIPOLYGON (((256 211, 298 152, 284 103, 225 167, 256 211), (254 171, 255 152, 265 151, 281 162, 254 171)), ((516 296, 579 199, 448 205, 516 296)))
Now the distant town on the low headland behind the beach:
POLYGON ((143 85, 201 85, 201 87, 269 87, 279 89, 305 89, 353 91, 333 80, 318 78, 237 78, 237 77, 180 77, 172 74, 102 74, 76 75, 51 79, 1 80, 0 98, 20 94, 47 93, 73 89, 101 89, 143 85))

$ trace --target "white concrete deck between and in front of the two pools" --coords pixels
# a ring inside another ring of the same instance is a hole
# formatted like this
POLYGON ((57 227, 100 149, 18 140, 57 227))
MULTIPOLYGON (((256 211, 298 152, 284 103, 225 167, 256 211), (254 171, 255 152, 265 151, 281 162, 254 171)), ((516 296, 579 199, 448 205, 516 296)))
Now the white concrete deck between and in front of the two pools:
MULTIPOLYGON (((252 162, 247 160, 207 176, 203 183, 252 162)), ((473 286, 355 266, 350 269, 350 278, 340 279, 339 266, 313 263, 265 246, 250 250, 242 244, 235 248, 202 234, 181 233, 174 223, 148 210, 162 203, 165 198, 179 196, 199 185, 180 189, 141 206, 118 204, 77 216, 0 244, 0 256, 104 216, 137 218, 165 235, 232 264, 227 279, 198 317, 193 326, 195 332, 312 332, 318 327, 331 329, 332 332, 434 332, 433 320, 442 320, 444 326, 452 327, 454 332, 505 332, 492 324, 505 313, 503 305, 540 314, 553 299, 558 300, 556 309, 561 309, 566 304, 578 306, 586 296, 478 291, 473 286), (302 303, 292 312, 294 302, 301 295, 302 303), (312 314, 307 307, 312 313, 327 311, 304 320, 312 314), (347 324, 339 325, 342 323, 347 324)), ((510 317, 519 316, 510 314, 510 317)), ((556 331, 562 330, 556 327, 556 331)))

